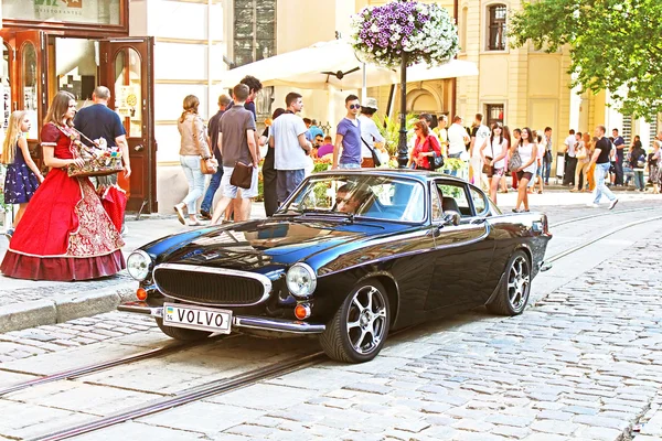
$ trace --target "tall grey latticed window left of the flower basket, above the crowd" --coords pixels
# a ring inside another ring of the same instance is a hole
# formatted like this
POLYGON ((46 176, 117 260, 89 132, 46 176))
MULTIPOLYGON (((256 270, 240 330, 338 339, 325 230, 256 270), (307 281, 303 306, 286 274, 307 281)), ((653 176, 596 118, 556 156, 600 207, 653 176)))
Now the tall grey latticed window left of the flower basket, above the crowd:
POLYGON ((276 53, 276 0, 234 0, 234 62, 237 66, 276 53))

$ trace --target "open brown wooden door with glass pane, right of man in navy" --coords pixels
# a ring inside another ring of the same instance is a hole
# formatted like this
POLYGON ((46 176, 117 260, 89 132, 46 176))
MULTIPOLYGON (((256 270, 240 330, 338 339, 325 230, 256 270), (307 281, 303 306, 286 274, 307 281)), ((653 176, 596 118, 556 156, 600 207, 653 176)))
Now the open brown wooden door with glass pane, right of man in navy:
MULTIPOLYGON (((100 85, 110 89, 108 107, 119 114, 127 131, 131 160, 127 209, 153 213, 157 206, 157 142, 153 114, 153 37, 103 40, 100 85)), ((119 173, 122 178, 122 173, 119 173)))

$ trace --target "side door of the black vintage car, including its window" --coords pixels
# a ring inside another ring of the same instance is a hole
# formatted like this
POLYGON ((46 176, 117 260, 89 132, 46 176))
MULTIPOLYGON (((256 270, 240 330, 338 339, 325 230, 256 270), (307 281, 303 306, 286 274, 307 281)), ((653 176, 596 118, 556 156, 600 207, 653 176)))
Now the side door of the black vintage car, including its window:
POLYGON ((441 201, 441 218, 433 217, 434 276, 425 309, 481 304, 487 300, 484 281, 493 255, 490 224, 476 214, 467 183, 436 180, 430 191, 433 201, 435 196, 441 201), (450 211, 460 213, 459 225, 444 222, 444 214, 450 211))

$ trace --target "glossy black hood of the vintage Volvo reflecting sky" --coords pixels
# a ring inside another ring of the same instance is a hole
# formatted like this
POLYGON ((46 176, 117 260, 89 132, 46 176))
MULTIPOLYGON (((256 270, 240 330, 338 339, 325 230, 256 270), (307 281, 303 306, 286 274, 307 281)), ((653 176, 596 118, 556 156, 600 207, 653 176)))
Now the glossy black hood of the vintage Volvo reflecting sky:
POLYGON ((329 220, 263 219, 200 228, 142 247, 157 263, 203 265, 261 273, 402 225, 329 220))

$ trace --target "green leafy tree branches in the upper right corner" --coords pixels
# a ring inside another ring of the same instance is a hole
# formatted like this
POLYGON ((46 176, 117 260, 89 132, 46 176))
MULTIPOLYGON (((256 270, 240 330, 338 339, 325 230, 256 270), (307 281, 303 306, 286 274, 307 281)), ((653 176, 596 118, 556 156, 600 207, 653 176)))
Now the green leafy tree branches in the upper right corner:
POLYGON ((531 41, 556 52, 568 44, 572 86, 608 89, 623 115, 662 111, 661 0, 540 0, 515 12, 511 45, 531 41))

